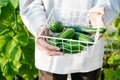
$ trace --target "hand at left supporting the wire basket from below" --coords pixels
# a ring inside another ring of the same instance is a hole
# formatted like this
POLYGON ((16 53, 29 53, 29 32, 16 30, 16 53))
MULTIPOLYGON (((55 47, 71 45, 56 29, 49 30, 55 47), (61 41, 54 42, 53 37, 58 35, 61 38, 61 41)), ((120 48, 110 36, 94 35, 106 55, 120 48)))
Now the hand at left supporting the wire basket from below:
POLYGON ((40 27, 40 29, 37 32, 37 40, 36 40, 36 46, 39 50, 41 50, 43 53, 49 56, 61 56, 63 55, 62 52, 60 52, 60 48, 50 45, 47 43, 45 38, 39 37, 41 35, 46 36, 48 33, 47 27, 40 27))

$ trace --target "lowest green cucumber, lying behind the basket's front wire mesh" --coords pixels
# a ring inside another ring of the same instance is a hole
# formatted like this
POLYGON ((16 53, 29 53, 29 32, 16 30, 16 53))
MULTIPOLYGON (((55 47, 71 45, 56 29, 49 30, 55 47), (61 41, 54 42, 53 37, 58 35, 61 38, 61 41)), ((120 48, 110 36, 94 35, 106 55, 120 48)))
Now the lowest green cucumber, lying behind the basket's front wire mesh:
POLYGON ((84 46, 80 42, 74 42, 74 41, 63 42, 58 46, 60 47, 61 51, 66 54, 80 53, 84 49, 84 46))

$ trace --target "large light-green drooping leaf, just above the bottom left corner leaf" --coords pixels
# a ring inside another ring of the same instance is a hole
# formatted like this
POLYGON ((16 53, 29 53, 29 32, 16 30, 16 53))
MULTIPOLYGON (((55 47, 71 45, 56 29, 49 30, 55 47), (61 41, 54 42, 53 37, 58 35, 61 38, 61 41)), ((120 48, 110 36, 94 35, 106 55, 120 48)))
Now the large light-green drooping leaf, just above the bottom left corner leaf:
POLYGON ((21 66, 21 54, 22 50, 20 46, 14 40, 8 41, 5 48, 5 55, 13 61, 13 64, 16 65, 17 69, 19 69, 21 66))

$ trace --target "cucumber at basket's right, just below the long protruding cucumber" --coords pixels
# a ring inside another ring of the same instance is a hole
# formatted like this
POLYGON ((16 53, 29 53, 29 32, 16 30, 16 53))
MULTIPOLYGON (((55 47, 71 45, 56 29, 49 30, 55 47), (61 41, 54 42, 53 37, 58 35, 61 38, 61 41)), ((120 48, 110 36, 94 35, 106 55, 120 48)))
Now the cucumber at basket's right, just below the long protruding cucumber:
POLYGON ((73 39, 80 40, 83 45, 92 45, 94 42, 94 39, 90 36, 78 32, 76 32, 73 39))

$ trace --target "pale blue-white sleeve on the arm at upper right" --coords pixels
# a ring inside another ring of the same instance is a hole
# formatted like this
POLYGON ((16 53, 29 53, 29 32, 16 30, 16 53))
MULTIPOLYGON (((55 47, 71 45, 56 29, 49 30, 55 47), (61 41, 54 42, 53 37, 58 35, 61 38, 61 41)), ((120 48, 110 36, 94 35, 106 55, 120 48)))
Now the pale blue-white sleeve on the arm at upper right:
POLYGON ((120 0, 99 0, 95 7, 105 7, 106 13, 103 16, 105 24, 110 24, 120 12, 120 0))

